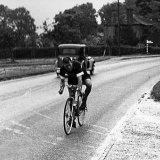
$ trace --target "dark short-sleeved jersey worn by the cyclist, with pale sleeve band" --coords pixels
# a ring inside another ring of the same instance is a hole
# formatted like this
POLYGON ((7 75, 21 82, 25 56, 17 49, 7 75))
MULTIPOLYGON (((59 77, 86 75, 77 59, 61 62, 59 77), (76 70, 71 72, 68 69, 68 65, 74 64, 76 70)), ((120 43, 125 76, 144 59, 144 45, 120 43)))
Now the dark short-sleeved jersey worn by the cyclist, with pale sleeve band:
POLYGON ((60 76, 61 78, 65 78, 65 75, 68 75, 68 84, 77 85, 78 84, 78 76, 82 75, 82 81, 86 78, 90 78, 90 75, 82 69, 81 63, 74 60, 72 61, 72 70, 68 71, 64 66, 60 68, 60 76))

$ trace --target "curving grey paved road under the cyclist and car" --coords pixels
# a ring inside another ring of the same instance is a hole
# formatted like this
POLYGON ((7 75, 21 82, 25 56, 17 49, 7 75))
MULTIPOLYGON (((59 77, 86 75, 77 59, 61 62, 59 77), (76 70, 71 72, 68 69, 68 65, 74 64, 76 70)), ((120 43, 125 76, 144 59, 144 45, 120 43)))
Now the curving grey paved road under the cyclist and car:
POLYGON ((96 63, 85 125, 66 136, 55 73, 0 82, 1 160, 90 160, 127 110, 160 78, 160 58, 96 63))

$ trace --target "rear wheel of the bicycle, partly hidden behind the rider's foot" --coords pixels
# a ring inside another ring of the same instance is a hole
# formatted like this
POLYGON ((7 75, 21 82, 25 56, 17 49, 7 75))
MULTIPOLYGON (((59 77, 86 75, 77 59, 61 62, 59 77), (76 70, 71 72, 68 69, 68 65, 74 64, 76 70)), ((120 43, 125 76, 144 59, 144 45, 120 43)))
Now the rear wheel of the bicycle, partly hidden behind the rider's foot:
POLYGON ((86 112, 85 109, 84 110, 79 110, 79 107, 81 106, 81 104, 82 104, 82 96, 78 96, 78 103, 77 103, 77 105, 78 105, 77 108, 78 108, 78 113, 79 113, 79 115, 78 115, 78 124, 80 126, 82 126, 84 124, 85 112, 86 112))

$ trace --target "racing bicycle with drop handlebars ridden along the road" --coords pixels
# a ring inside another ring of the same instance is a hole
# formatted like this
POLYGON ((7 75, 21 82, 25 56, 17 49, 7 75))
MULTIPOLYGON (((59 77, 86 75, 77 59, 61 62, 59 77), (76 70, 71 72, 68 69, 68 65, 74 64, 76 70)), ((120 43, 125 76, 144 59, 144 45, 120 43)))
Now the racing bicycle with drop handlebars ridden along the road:
POLYGON ((77 85, 67 85, 69 91, 69 97, 66 100, 63 114, 63 125, 64 131, 66 135, 69 135, 72 127, 73 121, 78 120, 79 126, 84 124, 85 120, 85 112, 87 108, 84 110, 79 110, 79 107, 82 104, 82 99, 84 93, 78 90, 77 85))

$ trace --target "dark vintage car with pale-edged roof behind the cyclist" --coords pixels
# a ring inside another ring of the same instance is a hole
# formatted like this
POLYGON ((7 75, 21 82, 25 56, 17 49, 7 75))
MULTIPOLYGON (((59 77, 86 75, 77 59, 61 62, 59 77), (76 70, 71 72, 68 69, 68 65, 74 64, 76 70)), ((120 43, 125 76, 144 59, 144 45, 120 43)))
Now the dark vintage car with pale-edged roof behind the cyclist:
POLYGON ((87 72, 90 72, 91 75, 94 74, 95 60, 91 56, 88 56, 88 47, 85 44, 61 44, 58 46, 57 60, 55 62, 57 77, 59 77, 63 57, 78 60, 86 67, 87 72))

